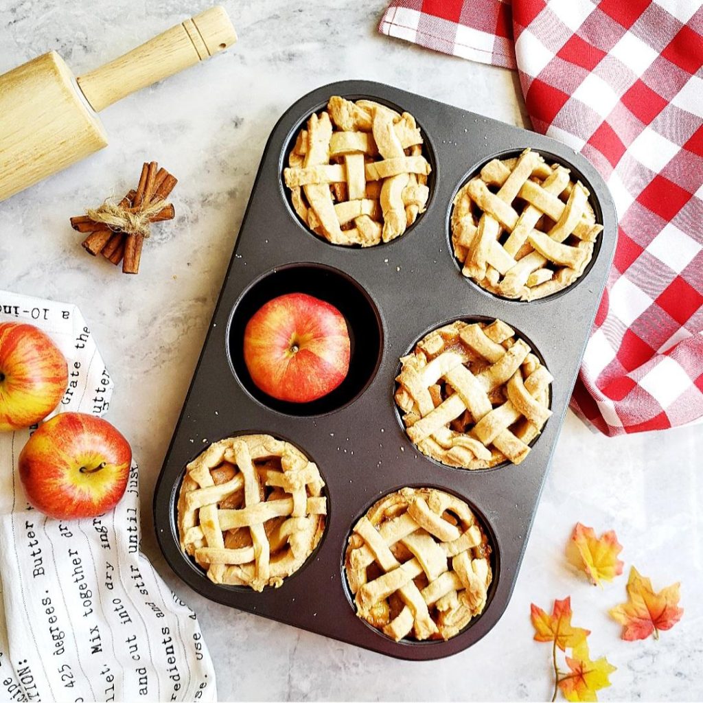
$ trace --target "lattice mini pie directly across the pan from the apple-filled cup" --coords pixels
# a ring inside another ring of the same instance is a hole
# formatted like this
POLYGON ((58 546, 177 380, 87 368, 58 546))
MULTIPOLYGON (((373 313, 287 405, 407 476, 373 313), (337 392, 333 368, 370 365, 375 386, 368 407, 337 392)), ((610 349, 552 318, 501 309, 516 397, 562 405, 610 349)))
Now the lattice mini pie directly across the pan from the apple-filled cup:
POLYGON ((408 437, 446 465, 519 464, 551 415, 552 376, 500 320, 433 330, 400 362, 395 400, 408 437))

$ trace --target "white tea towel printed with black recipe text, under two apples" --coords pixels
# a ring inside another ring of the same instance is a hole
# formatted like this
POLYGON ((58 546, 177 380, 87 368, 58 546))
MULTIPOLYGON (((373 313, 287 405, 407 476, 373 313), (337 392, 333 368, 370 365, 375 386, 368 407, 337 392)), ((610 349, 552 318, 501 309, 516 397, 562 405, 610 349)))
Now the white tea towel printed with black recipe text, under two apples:
MULTIPOLYGON (((6 321, 36 325, 66 357, 57 412, 107 411, 112 380, 77 307, 0 291, 6 321)), ((217 699, 195 613, 139 551, 136 464, 114 510, 53 520, 22 492, 29 435, 0 434, 0 700, 217 699)))

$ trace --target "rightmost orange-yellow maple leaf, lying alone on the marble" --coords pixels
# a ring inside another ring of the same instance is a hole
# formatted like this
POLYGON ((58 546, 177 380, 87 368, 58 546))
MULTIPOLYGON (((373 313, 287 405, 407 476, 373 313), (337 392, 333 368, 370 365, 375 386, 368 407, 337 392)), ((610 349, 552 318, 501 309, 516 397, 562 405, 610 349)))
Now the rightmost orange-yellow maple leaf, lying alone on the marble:
POLYGON ((628 600, 610 609, 610 617, 623 626, 624 640, 645 640, 652 633, 659 639, 659 630, 669 630, 681 620, 683 608, 678 607, 679 583, 652 590, 652 581, 641 576, 635 567, 627 580, 628 600))

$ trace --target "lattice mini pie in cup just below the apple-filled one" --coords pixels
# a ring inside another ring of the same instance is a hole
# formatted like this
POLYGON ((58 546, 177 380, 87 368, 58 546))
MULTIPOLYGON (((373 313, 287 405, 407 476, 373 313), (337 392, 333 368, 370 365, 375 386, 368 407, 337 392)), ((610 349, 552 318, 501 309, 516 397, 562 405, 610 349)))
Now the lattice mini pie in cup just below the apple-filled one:
POLYGON ((278 587, 325 531, 324 485, 301 451, 268 434, 215 442, 186 467, 181 549, 214 583, 278 587))

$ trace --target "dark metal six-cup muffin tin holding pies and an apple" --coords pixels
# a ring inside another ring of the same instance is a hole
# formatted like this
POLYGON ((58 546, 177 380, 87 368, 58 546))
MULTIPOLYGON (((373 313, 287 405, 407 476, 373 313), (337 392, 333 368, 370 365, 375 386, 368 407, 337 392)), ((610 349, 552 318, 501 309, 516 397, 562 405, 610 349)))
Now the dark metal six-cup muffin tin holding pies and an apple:
MULTIPOLYGON (((401 659, 437 659, 482 638, 508 605, 553 449, 572 394, 616 243, 612 199, 595 169, 553 139, 390 86, 343 81, 297 101, 266 144, 239 238, 200 361, 155 491, 157 536, 167 561, 191 588, 217 602, 401 659), (432 165, 427 211, 400 238, 367 249, 326 243, 290 205, 282 172, 299 129, 333 95, 370 98, 411 112, 432 165), (461 275, 451 250, 454 195, 494 157, 526 147, 572 170, 591 192, 604 229, 591 264, 570 288, 534 302, 501 299, 461 275), (333 393, 297 406, 252 384, 241 345, 247 320, 285 292, 307 292, 347 318, 352 363, 333 393), (404 432, 394 403, 399 358, 427 332, 457 318, 499 318, 524 337, 554 377, 553 415, 520 465, 446 467, 423 456, 404 432), (262 432, 286 439, 317 463, 327 484, 325 536, 280 588, 256 593, 220 586, 181 553, 176 501, 186 464, 212 441, 262 432), (403 486, 434 486, 475 510, 493 547, 484 612, 448 641, 396 643, 356 617, 344 576, 352 525, 380 496, 403 486)), ((226 627, 226 622, 223 622, 226 627)))

